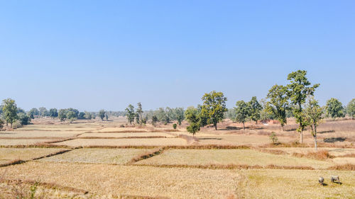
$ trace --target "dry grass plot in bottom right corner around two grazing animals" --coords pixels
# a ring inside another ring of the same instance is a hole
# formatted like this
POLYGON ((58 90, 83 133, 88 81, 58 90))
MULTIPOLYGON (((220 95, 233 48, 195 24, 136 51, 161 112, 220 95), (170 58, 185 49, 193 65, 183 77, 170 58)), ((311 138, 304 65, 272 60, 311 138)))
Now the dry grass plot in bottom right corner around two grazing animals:
POLYGON ((354 198, 355 171, 246 170, 241 171, 240 198, 354 198), (330 182, 340 176, 342 185, 330 182), (318 178, 324 177, 327 186, 318 178))

